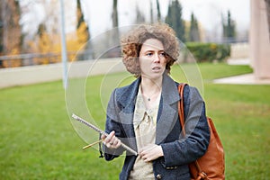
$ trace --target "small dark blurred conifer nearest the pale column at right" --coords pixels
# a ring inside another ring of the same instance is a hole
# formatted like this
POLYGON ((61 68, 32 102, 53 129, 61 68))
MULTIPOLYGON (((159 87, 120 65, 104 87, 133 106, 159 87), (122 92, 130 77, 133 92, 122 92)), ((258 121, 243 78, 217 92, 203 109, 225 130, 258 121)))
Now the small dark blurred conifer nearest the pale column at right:
POLYGON ((227 21, 224 21, 222 18, 222 27, 223 27, 223 38, 226 41, 231 41, 236 37, 236 24, 235 21, 231 19, 230 12, 227 14, 227 21))

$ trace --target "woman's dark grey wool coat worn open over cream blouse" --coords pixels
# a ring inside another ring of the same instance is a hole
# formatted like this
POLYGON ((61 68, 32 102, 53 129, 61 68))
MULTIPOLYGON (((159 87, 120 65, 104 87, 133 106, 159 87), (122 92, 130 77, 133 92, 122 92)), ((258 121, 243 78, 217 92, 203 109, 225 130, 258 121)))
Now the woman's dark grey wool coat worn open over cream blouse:
MULTIPOLYGON (((116 88, 107 107, 105 131, 115 130, 115 135, 130 148, 138 150, 133 129, 133 112, 138 94, 140 78, 130 85, 116 88)), ((164 74, 162 92, 157 113, 156 144, 160 145, 164 157, 154 160, 153 171, 156 179, 190 179, 188 163, 202 157, 210 139, 210 131, 205 116, 205 105, 195 87, 184 87, 185 137, 181 134, 177 103, 180 100, 176 83, 164 74)), ((119 157, 124 149, 112 150, 106 147, 104 157, 112 160, 119 157)), ((126 180, 134 165, 136 156, 126 152, 119 179, 126 180)))

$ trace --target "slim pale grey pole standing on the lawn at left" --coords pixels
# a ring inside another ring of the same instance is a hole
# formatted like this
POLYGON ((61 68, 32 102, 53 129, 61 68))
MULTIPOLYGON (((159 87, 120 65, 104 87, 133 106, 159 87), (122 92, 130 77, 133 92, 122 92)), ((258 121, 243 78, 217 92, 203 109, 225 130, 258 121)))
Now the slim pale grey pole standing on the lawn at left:
POLYGON ((62 44, 62 64, 63 64, 63 86, 67 89, 67 43, 65 32, 65 8, 64 0, 60 0, 61 9, 61 44, 62 44))

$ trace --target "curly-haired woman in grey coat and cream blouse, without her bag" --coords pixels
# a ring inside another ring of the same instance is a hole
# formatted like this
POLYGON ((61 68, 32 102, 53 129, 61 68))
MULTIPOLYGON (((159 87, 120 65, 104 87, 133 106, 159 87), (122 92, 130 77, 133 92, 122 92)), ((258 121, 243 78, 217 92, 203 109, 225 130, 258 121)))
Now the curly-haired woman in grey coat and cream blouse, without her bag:
POLYGON ((137 77, 116 88, 107 108, 104 157, 126 152, 120 179, 190 179, 188 163, 205 153, 210 132, 196 88, 184 87, 185 137, 177 112, 177 85, 168 73, 179 55, 175 31, 163 23, 140 25, 121 39, 123 63, 137 77))

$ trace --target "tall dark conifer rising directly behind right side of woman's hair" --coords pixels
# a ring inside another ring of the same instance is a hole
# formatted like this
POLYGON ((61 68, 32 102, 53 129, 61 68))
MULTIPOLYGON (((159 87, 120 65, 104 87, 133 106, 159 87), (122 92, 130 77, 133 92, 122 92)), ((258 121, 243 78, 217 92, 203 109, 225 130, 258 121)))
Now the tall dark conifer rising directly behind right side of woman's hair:
POLYGON ((175 30, 176 36, 179 40, 185 41, 182 5, 178 2, 178 0, 173 0, 168 5, 165 22, 175 30))

